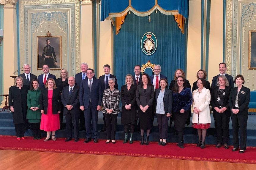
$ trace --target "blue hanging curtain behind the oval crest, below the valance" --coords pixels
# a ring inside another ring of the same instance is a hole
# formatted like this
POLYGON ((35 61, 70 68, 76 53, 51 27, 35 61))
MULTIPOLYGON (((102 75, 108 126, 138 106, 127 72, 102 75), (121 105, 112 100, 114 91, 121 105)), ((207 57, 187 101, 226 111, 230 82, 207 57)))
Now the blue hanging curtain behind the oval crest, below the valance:
POLYGON ((113 33, 113 70, 120 88, 124 85, 127 74, 134 75, 134 66, 146 64, 148 60, 152 64, 161 65, 161 74, 167 76, 169 83, 173 80, 176 69, 186 71, 187 26, 185 25, 185 32, 182 34, 172 15, 153 12, 150 18, 151 22, 148 22, 148 16, 128 14, 119 34, 113 33), (147 32, 154 33, 157 38, 157 49, 150 56, 144 54, 140 46, 141 38, 147 32))

